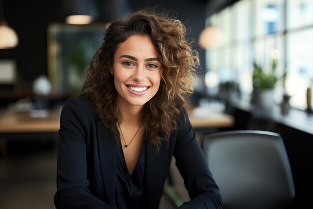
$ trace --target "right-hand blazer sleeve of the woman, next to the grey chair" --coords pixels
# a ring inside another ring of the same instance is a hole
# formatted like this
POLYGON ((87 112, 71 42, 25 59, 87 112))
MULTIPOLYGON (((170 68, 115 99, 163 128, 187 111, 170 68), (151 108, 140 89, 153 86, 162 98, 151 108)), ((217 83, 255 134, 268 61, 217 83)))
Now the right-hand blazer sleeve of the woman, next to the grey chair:
POLYGON ((219 188, 209 171, 185 109, 183 109, 182 126, 177 134, 174 156, 191 199, 179 208, 221 209, 219 188))

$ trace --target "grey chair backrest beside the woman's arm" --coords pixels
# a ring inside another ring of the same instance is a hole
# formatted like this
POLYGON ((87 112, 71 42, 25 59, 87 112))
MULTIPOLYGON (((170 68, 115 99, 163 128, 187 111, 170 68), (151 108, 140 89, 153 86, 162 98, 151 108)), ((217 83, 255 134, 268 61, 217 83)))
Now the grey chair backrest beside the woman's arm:
POLYGON ((224 131, 203 138, 203 152, 224 209, 274 209, 295 196, 281 136, 268 131, 224 131))

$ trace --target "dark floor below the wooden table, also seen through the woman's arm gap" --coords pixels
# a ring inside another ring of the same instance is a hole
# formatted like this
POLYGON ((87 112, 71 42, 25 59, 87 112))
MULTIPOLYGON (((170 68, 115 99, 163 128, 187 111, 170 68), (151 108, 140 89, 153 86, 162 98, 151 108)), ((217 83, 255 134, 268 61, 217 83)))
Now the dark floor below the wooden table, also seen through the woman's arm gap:
MULTIPOLYGON (((52 209, 56 191, 56 146, 53 141, 10 141, 7 156, 0 153, 0 208, 52 209)), ((175 194, 187 200, 181 176, 171 168, 175 194)), ((166 185, 168 184, 168 181, 166 185)), ((165 190, 168 186, 165 186, 165 190)), ((176 196, 177 198, 177 196, 176 196)), ((175 199, 176 200, 176 199, 175 199)), ((160 209, 176 208, 163 195, 160 209)))

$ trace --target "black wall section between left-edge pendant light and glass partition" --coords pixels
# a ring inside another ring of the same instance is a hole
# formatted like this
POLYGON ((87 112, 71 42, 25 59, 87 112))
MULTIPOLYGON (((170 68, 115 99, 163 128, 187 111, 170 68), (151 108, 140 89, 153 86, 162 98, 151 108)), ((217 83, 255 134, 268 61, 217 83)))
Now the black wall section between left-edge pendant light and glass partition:
POLYGON ((4 19, 18 34, 14 49, 0 49, 0 59, 14 59, 21 88, 29 90, 36 76, 47 74, 47 25, 63 21, 60 0, 4 1, 4 19))

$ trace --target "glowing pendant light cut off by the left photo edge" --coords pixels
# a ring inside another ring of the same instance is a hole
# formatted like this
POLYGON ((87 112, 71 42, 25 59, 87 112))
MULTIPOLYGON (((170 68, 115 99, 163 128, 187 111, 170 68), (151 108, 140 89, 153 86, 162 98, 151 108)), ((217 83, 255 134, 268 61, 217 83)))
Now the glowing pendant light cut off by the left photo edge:
POLYGON ((18 36, 4 21, 4 4, 2 0, 0 2, 0 49, 14 48, 18 44, 18 36))

